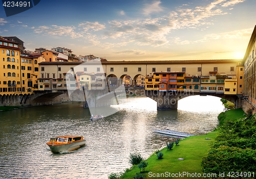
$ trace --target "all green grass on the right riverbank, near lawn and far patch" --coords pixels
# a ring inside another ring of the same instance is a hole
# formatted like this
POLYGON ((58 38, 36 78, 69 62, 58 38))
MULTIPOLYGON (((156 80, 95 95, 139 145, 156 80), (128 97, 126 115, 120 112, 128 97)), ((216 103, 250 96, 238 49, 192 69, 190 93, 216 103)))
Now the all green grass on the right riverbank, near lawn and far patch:
MULTIPOLYGON (((231 109, 223 113, 222 116, 221 120, 223 123, 233 121, 243 117, 244 111, 242 109, 231 109)), ((160 160, 157 159, 156 154, 152 154, 146 160, 148 162, 148 166, 145 169, 146 172, 144 172, 146 178, 190 178, 187 176, 188 173, 191 176, 196 173, 197 176, 199 176, 198 174, 203 176, 202 159, 207 155, 210 143, 215 140, 217 135, 218 128, 214 132, 209 132, 206 135, 185 138, 180 141, 179 146, 174 146, 172 150, 163 148, 161 150, 163 159, 160 160), (206 138, 210 138, 210 140, 206 140, 206 138), (179 161, 178 158, 183 158, 184 160, 179 161), (183 172, 186 175, 182 175, 182 177, 178 175, 180 173, 183 174, 183 172)), ((139 172, 138 166, 135 165, 127 170, 120 178, 130 179, 139 172)))

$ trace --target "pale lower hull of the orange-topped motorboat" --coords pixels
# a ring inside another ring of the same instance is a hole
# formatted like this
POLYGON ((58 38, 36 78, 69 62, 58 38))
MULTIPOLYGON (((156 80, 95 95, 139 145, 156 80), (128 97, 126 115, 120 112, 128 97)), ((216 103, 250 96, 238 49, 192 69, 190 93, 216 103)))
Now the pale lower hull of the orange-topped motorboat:
POLYGON ((72 142, 69 144, 59 144, 59 145, 47 143, 47 145, 50 147, 50 149, 53 153, 59 153, 59 152, 63 152, 63 151, 72 151, 72 150, 78 149, 81 146, 86 145, 86 140, 72 142))

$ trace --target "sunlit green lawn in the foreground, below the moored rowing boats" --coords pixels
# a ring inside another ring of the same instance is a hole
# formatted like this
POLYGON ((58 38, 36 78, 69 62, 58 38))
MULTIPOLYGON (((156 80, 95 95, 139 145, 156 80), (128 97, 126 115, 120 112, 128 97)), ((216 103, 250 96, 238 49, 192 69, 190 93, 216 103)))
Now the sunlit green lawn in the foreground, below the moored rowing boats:
MULTIPOLYGON (((209 144, 216 138, 216 132, 207 133, 203 136, 192 136, 180 141, 179 146, 174 146, 172 150, 162 149, 163 159, 157 159, 156 155, 152 155, 146 161, 148 166, 146 167, 147 178, 166 178, 166 177, 150 177, 148 172, 152 173, 202 173, 201 162, 204 156, 206 156, 209 149, 209 144), (211 138, 211 140, 205 140, 205 138, 211 138), (179 161, 178 158, 183 158, 184 161, 179 161)), ((137 165, 124 173, 121 178, 133 178, 133 176, 139 172, 137 165)), ((170 177, 172 178, 172 177, 170 177)), ((177 178, 177 177, 175 177, 177 178)), ((188 178, 188 177, 182 177, 188 178)))

